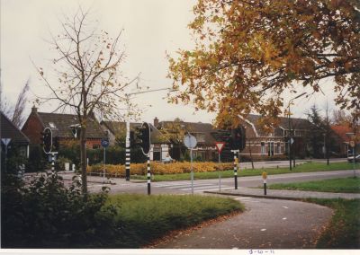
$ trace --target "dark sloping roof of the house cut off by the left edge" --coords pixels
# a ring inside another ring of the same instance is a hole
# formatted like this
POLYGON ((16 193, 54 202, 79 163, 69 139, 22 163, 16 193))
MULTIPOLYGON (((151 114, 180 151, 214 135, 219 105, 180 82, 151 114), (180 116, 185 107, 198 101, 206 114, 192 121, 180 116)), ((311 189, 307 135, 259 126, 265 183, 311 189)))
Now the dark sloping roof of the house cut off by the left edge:
POLYGON ((14 123, 7 119, 3 112, 1 112, 1 138, 11 138, 11 143, 14 144, 29 144, 30 140, 23 132, 17 128, 14 123))

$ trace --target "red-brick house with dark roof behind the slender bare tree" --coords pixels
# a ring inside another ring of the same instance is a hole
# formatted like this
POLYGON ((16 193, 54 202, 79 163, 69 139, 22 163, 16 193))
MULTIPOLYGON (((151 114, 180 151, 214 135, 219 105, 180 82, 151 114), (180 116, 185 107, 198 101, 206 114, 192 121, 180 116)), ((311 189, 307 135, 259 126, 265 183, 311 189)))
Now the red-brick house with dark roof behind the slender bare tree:
MULTIPOLYGON (((31 114, 23 125, 23 133, 30 138, 31 144, 41 144, 41 134, 44 128, 51 128, 53 136, 58 136, 59 145, 76 141, 79 138, 80 124, 74 114, 39 112, 31 108, 31 114)), ((86 147, 99 148, 105 133, 95 118, 89 118, 86 129, 86 147)))

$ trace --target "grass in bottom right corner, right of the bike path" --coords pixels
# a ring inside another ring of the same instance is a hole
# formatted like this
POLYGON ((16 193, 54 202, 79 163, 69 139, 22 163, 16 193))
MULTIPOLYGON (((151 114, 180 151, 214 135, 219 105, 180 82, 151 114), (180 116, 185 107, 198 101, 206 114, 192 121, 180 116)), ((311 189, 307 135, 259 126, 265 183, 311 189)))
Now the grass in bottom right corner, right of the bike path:
POLYGON ((305 201, 331 207, 335 211, 317 243, 320 249, 360 249, 360 199, 316 199, 305 201))

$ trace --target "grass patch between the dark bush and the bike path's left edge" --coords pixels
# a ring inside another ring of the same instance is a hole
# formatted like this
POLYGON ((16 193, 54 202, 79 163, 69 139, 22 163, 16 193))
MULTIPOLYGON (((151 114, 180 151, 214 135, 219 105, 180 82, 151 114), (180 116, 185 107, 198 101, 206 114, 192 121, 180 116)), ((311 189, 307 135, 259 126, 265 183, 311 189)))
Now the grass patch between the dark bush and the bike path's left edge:
POLYGON ((139 248, 169 231, 243 211, 232 198, 182 195, 112 195, 108 203, 118 211, 119 240, 109 248, 139 248))

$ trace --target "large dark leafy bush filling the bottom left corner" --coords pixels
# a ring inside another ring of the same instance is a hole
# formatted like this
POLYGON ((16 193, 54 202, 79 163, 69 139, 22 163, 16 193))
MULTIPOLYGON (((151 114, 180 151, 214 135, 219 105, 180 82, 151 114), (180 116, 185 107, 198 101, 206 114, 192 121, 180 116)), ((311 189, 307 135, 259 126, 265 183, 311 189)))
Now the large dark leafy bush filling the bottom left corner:
POLYGON ((26 186, 6 175, 1 191, 3 248, 104 247, 117 235, 106 192, 85 198, 57 174, 42 174, 26 186))

